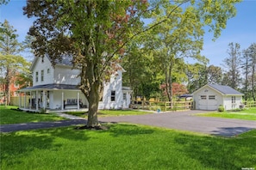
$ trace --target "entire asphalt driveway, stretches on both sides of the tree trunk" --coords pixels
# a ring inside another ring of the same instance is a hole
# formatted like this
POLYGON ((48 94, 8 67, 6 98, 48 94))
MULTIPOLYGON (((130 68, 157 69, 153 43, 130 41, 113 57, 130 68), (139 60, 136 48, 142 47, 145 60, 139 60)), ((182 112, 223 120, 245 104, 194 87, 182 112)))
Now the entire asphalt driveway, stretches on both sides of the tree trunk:
MULTIPOLYGON (((104 117, 99 118, 99 121, 147 124, 175 130, 194 131, 223 137, 233 137, 240 133, 256 129, 256 121, 195 116, 195 114, 202 112, 207 111, 166 112, 134 116, 104 117)), ((65 114, 62 116, 68 116, 68 118, 71 117, 65 114)), ((3 124, 0 125, 0 132, 25 131, 75 124, 86 124, 86 120, 78 117, 72 117, 70 120, 61 120, 57 122, 3 124)))

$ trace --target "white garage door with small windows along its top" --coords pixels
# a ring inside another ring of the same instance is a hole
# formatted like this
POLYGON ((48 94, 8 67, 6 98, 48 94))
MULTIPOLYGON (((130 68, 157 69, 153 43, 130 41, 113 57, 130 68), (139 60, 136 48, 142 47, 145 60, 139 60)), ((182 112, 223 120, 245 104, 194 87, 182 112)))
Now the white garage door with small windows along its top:
POLYGON ((200 95, 198 100, 199 110, 217 110, 217 99, 215 95, 200 95))

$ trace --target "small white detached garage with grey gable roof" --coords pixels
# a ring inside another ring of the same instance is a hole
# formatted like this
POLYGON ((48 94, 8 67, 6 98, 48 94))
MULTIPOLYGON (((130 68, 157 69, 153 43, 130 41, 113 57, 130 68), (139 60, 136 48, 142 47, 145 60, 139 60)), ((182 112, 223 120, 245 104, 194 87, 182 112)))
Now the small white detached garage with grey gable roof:
POLYGON ((243 96, 234 88, 217 84, 207 84, 192 95, 198 110, 217 110, 221 105, 225 110, 240 108, 243 96))

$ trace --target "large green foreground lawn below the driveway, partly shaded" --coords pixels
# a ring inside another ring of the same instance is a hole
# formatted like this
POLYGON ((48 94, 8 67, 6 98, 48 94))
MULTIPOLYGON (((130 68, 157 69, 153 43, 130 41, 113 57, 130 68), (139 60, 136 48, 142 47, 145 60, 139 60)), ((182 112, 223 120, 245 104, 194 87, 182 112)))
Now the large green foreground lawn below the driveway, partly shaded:
POLYGON ((256 168, 256 131, 224 138, 135 124, 1 134, 1 167, 16 169, 256 168))

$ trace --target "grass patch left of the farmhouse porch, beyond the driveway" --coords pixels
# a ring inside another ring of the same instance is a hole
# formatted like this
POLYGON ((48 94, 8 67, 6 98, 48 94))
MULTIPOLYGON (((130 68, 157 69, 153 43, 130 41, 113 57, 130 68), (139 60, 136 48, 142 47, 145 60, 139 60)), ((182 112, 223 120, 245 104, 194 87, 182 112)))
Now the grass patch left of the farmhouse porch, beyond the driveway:
POLYGON ((20 124, 28 122, 44 122, 44 121, 57 121, 65 118, 60 118, 54 114, 40 114, 31 112, 22 112, 12 109, 16 106, 0 106, 0 124, 20 124))

